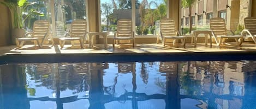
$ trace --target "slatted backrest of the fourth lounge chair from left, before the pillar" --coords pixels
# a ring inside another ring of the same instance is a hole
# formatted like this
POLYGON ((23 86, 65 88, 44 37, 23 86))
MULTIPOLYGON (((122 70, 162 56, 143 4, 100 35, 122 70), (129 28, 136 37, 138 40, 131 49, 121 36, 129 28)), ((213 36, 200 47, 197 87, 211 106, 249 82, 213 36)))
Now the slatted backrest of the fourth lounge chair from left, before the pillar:
POLYGON ((160 20, 160 33, 162 36, 175 36, 175 22, 170 18, 160 20))

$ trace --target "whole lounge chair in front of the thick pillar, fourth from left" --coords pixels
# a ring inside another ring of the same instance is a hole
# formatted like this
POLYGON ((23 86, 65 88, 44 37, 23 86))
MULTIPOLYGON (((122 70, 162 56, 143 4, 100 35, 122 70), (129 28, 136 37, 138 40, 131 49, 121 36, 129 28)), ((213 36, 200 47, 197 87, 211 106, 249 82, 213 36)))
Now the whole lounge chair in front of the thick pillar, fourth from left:
MULTIPOLYGON (((172 39, 175 46, 175 40, 181 40, 183 47, 186 46, 186 37, 177 36, 178 31, 175 30, 175 22, 170 18, 164 18, 160 20, 160 36, 163 46, 165 46, 166 40, 172 39)), ((178 34, 179 35, 179 34, 178 34)))

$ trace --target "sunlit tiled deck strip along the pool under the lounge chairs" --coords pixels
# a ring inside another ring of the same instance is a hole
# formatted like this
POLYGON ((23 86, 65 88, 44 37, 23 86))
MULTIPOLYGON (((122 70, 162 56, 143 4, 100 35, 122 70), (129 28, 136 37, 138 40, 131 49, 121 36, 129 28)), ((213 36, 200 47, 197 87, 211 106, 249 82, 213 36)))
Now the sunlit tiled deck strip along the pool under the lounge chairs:
POLYGON ((71 45, 65 45, 63 49, 60 49, 59 45, 55 45, 51 47, 51 45, 44 45, 42 48, 34 45, 25 45, 22 48, 16 48, 16 46, 7 46, 7 47, 0 47, 0 54, 1 55, 9 55, 9 54, 115 54, 115 53, 129 53, 129 54, 151 54, 151 53, 168 53, 168 54, 175 54, 175 53, 222 53, 222 52, 250 52, 256 53, 256 44, 254 43, 243 43, 242 46, 235 46, 235 45, 225 45, 225 46, 216 46, 213 44, 213 47, 210 48, 205 47, 204 43, 198 43, 197 47, 194 48, 193 44, 188 43, 186 48, 181 46, 172 47, 172 46, 165 46, 163 47, 162 44, 136 44, 135 48, 132 48, 129 44, 118 46, 116 48, 112 48, 112 44, 108 45, 108 48, 104 48, 103 44, 96 44, 93 48, 88 48, 85 45, 84 49, 81 49, 79 44, 72 47, 71 45))

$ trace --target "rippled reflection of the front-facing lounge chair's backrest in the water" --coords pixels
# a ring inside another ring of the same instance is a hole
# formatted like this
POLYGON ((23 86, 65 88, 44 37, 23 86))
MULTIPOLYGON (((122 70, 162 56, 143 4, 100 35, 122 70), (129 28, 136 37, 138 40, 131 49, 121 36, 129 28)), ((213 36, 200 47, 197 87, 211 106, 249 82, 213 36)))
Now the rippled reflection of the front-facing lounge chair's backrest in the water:
POLYGON ((118 63, 118 73, 135 73, 136 63, 118 63))

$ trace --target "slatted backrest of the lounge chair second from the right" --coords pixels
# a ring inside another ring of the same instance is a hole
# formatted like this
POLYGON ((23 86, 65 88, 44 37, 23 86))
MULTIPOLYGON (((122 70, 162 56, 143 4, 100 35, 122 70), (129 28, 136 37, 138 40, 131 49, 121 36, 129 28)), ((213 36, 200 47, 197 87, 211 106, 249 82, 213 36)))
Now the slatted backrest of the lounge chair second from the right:
POLYGON ((220 17, 210 19, 210 29, 217 36, 227 35, 225 20, 220 17))

